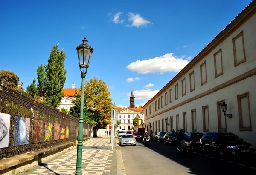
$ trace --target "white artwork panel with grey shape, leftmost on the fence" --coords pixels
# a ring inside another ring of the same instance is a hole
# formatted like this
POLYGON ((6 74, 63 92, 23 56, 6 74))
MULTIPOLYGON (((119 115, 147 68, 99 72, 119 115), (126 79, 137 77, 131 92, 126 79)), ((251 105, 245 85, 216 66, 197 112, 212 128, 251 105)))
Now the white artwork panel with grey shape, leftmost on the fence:
POLYGON ((6 148, 9 145, 11 115, 0 112, 0 148, 6 148))

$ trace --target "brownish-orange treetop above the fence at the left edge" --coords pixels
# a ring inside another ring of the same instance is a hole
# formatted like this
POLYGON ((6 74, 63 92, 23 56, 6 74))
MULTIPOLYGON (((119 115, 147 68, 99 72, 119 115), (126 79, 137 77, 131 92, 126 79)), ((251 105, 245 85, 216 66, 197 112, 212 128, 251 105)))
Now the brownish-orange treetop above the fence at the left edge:
POLYGON ((14 72, 8 70, 0 71, 0 84, 4 86, 9 86, 9 88, 22 92, 23 82, 19 83, 20 77, 17 76, 14 72))

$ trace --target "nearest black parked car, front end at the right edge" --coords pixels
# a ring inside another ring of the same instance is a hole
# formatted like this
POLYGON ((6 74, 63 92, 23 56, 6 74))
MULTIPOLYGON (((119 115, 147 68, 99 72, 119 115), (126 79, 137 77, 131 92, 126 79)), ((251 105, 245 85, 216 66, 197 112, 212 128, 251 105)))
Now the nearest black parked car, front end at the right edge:
POLYGON ((227 155, 250 155, 253 146, 232 132, 207 132, 200 139, 202 152, 218 152, 220 157, 227 155))

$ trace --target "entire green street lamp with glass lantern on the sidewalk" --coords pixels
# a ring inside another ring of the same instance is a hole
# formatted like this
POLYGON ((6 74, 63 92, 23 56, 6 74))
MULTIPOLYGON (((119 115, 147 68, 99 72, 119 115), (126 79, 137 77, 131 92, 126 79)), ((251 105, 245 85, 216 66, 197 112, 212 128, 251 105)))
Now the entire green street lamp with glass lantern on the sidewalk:
POLYGON ((82 175, 82 149, 83 149, 83 115, 84 115, 84 78, 87 72, 87 68, 90 64, 90 58, 93 53, 93 48, 87 44, 86 37, 84 37, 83 43, 76 47, 79 67, 82 77, 81 87, 81 105, 80 105, 80 118, 79 118, 79 130, 77 137, 77 158, 76 158, 76 175, 82 175))

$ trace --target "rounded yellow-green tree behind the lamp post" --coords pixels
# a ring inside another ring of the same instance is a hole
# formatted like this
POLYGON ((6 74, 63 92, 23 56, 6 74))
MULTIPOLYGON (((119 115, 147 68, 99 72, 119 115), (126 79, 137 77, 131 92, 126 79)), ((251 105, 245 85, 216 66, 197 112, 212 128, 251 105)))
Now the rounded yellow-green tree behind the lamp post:
MULTIPOLYGON (((76 118, 80 117, 81 92, 75 94, 74 106, 70 108, 70 114, 76 118)), ((94 77, 85 82, 84 86, 84 122, 95 129, 105 129, 110 124, 111 109, 116 105, 111 103, 108 86, 103 80, 94 77)))

